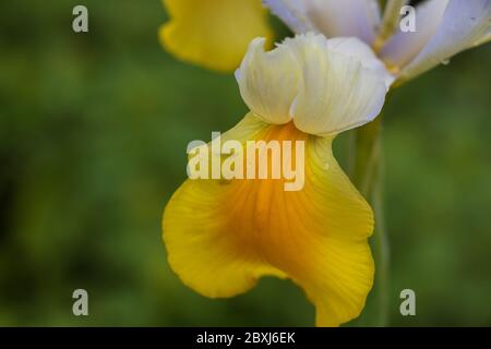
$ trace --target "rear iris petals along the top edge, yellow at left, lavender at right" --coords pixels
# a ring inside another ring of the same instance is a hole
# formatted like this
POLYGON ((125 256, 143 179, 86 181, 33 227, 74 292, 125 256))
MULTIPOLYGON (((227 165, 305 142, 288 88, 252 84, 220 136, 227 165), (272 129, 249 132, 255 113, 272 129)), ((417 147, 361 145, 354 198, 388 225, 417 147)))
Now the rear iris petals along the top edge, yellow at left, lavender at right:
MULTIPOLYGON (((399 28, 407 0, 264 0, 296 34, 358 37, 385 62, 397 84, 491 39, 491 0, 427 0, 416 7, 416 32, 399 28)), ((170 22, 160 31, 177 57, 231 71, 255 36, 271 37, 260 0, 164 0, 170 22)))

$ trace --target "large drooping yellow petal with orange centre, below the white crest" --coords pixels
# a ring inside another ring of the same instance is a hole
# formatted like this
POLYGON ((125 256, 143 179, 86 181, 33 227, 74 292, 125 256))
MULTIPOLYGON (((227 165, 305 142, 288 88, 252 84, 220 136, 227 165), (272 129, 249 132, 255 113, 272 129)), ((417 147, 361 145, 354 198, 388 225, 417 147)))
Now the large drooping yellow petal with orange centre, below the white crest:
POLYGON ((358 316, 373 281, 373 215, 334 159, 332 137, 252 115, 225 136, 304 141, 304 186, 285 191, 283 179, 185 181, 164 214, 172 269, 208 297, 244 292, 263 275, 288 276, 314 303, 316 325, 358 316))

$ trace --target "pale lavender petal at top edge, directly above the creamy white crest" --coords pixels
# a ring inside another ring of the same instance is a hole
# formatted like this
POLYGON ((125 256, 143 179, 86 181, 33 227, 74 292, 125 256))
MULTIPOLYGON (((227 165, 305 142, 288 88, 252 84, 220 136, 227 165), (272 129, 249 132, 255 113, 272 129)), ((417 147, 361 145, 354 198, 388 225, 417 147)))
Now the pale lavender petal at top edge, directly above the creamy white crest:
POLYGON ((371 44, 380 24, 378 0, 264 0, 294 32, 355 36, 371 44))

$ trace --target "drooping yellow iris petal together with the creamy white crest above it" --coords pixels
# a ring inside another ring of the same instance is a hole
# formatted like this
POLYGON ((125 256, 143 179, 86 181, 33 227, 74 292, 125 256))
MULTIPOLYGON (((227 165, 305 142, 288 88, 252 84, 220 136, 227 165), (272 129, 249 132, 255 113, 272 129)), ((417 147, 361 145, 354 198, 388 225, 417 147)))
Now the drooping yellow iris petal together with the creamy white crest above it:
POLYGON ((316 325, 337 326, 360 314, 373 284, 373 213, 332 142, 379 115, 387 73, 357 38, 309 33, 272 51, 264 45, 252 40, 236 74, 251 111, 221 140, 243 149, 248 141, 303 141, 304 185, 188 179, 164 213, 168 261, 184 285, 211 298, 246 292, 262 276, 289 278, 314 304, 316 325))

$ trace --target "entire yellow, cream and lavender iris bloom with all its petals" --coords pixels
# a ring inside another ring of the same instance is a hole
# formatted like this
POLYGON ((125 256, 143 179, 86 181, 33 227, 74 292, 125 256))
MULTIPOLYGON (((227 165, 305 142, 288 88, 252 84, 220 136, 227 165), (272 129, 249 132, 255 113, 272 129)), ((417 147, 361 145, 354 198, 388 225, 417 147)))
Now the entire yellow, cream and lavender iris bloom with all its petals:
POLYGON ((357 317, 373 285, 373 213, 332 142, 373 120, 388 86, 489 41, 491 0, 420 2, 414 33, 399 28, 406 0, 163 2, 167 50, 223 72, 240 64, 236 77, 251 111, 224 141, 243 151, 248 141, 306 143, 300 191, 285 191, 285 179, 187 180, 164 213, 171 268, 211 298, 246 292, 262 276, 289 278, 314 304, 316 325, 357 317), (267 9, 297 36, 265 52, 267 9))

